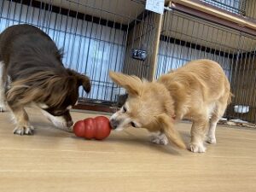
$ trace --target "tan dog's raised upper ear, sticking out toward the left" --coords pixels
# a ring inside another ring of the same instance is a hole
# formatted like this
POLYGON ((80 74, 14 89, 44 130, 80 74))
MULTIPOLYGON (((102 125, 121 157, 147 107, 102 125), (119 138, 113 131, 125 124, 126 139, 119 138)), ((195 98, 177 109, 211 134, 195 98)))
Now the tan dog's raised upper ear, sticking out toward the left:
POLYGON ((109 72, 110 78, 115 84, 124 87, 129 95, 140 96, 143 81, 137 76, 125 75, 123 73, 109 72))

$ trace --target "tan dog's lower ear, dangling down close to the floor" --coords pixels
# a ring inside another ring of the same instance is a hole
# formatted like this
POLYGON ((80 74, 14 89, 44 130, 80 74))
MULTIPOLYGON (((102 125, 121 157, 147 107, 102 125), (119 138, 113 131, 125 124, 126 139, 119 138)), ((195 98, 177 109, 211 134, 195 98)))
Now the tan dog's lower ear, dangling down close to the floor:
POLYGON ((166 134, 169 142, 174 143, 179 148, 186 148, 185 143, 183 143, 183 139, 174 128, 172 117, 169 117, 167 114, 160 114, 157 116, 157 121, 160 124, 162 131, 166 134))

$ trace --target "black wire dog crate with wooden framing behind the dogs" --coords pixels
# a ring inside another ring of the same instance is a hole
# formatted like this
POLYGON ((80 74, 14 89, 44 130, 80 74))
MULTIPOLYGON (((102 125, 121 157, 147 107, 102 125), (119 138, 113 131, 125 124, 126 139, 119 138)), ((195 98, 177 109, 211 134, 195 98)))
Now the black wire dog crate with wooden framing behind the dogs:
POLYGON ((81 103, 99 107, 126 98, 109 70, 151 80, 187 61, 218 61, 235 95, 225 116, 256 123, 256 2, 172 0, 163 15, 144 8, 144 0, 2 0, 0 32, 19 23, 47 32, 63 63, 91 79, 81 103))

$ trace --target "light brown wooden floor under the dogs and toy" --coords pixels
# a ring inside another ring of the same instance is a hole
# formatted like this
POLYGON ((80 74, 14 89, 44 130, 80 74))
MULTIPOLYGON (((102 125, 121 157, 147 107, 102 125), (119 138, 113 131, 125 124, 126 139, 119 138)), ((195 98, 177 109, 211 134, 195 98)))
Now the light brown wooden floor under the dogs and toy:
MULTIPOLYGON (((218 127, 217 145, 193 154, 149 143, 138 129, 87 141, 30 114, 35 135, 20 137, 0 113, 1 192, 256 191, 256 131, 218 127)), ((88 116, 95 115, 73 113, 74 120, 88 116)), ((189 126, 177 125, 187 143, 189 126)))

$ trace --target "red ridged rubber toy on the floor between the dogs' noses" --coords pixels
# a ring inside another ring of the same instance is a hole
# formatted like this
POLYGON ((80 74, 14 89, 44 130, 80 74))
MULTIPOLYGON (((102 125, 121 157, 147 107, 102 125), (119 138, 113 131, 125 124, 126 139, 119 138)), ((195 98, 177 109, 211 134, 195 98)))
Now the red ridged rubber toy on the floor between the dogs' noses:
POLYGON ((96 118, 87 118, 79 120, 73 125, 73 131, 77 137, 86 139, 102 140, 109 136, 111 126, 108 118, 98 116, 96 118))

